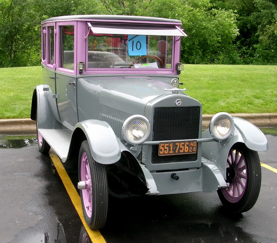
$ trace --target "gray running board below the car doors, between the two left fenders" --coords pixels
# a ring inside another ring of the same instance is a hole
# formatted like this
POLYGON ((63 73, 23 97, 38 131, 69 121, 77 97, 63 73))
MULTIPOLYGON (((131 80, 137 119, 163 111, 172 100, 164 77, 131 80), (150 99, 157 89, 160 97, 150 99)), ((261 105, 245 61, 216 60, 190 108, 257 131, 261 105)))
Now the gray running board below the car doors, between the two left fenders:
POLYGON ((67 159, 71 136, 62 129, 38 129, 45 141, 51 146, 62 162, 67 159))

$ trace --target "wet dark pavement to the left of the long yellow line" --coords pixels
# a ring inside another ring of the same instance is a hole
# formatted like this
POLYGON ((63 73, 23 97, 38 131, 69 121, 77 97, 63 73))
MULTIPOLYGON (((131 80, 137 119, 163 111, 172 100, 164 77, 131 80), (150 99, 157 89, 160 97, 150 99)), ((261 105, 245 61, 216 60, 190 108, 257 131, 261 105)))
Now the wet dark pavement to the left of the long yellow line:
POLYGON ((79 242, 82 223, 50 157, 34 145, 0 157, 0 242, 79 242))

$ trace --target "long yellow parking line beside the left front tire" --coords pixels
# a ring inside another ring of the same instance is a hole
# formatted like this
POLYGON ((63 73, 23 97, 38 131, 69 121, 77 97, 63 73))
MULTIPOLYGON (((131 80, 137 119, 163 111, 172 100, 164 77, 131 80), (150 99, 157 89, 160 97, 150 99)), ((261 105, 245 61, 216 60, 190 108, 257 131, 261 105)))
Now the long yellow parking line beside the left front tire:
POLYGON ((56 153, 50 152, 49 154, 50 154, 50 157, 56 167, 56 170, 57 170, 60 178, 62 179, 64 187, 65 187, 81 221, 83 222, 83 224, 87 230, 89 237, 91 238, 93 243, 106 243, 106 240, 104 239, 104 237, 102 236, 102 234, 100 233, 99 230, 91 230, 89 228, 89 226, 87 225, 84 215, 83 215, 80 196, 77 193, 75 187, 73 186, 69 176, 67 175, 67 173, 61 163, 61 160, 59 159, 59 157, 57 156, 56 153))

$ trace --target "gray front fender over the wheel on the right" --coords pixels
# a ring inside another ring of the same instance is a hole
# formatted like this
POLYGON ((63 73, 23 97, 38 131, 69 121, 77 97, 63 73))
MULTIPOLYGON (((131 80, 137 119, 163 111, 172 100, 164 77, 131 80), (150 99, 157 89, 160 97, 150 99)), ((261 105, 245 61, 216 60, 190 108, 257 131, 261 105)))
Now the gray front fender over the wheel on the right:
MULTIPOLYGON (((234 131, 227 140, 202 143, 202 156, 212 161, 225 179, 228 152, 235 143, 244 143, 249 149, 255 151, 268 149, 267 139, 260 129, 245 119, 233 117, 233 120, 234 131)), ((203 132, 202 137, 212 138, 209 129, 203 132)))

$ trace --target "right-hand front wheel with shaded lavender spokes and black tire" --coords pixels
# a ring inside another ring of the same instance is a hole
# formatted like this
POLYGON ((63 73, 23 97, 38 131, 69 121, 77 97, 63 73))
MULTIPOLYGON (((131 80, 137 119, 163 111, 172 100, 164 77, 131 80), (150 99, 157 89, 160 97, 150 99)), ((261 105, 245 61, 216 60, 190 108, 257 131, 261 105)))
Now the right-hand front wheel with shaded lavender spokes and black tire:
POLYGON ((256 151, 244 144, 234 145, 226 163, 227 189, 218 190, 223 206, 230 213, 243 213, 256 203, 261 188, 261 165, 256 151))

